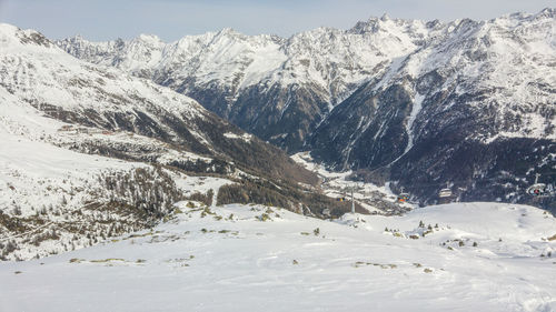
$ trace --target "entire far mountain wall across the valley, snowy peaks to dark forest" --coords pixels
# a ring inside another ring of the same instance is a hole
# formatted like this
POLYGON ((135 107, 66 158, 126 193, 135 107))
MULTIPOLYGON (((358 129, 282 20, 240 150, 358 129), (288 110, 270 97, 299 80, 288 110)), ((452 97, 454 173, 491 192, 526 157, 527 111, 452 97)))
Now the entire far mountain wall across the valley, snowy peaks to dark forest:
POLYGON ((172 43, 57 44, 189 94, 289 152, 365 177, 378 169, 421 200, 448 183, 461 198, 519 201, 535 172, 554 172, 555 29, 556 10, 545 9, 488 21, 373 18, 288 39, 225 29, 172 43))

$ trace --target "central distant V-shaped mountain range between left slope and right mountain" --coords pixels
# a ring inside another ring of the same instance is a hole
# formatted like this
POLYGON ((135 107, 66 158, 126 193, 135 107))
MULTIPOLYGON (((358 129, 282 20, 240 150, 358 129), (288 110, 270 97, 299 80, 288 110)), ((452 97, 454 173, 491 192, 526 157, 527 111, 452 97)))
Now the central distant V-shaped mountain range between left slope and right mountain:
POLYGON ((420 21, 374 19, 351 30, 319 28, 289 39, 232 29, 163 43, 157 37, 58 41, 69 53, 150 78, 280 147, 295 151, 360 83, 428 36, 420 21), (373 28, 374 30, 367 30, 373 28))

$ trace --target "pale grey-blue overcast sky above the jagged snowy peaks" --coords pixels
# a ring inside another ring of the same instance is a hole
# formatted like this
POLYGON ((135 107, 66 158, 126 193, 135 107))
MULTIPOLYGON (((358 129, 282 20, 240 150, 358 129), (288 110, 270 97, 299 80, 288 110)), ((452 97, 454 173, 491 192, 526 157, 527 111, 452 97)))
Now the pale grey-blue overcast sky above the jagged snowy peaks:
POLYGON ((247 34, 292 33, 320 26, 347 29, 381 17, 423 20, 492 19, 535 13, 556 0, 0 0, 0 21, 51 39, 89 40, 152 33, 165 41, 231 27, 247 34))

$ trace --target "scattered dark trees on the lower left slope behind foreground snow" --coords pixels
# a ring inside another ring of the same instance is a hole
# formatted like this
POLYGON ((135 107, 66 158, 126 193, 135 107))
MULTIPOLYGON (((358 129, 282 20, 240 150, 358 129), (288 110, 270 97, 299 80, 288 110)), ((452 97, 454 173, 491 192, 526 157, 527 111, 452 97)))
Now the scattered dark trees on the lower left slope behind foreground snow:
MULTIPOLYGON (((107 171, 97 182, 83 190, 88 195, 82 207, 70 207, 62 198, 56 209, 43 207, 30 217, 0 211, 2 233, 24 233, 8 241, 8 236, 0 235, 4 239, 0 241, 0 260, 18 260, 18 251, 23 249, 43 256, 150 228, 173 211, 173 203, 185 199, 169 171, 160 167, 107 171), (41 248, 43 241, 52 240, 57 241, 54 245, 41 248)), ((211 194, 206 197, 212 199, 211 194)))

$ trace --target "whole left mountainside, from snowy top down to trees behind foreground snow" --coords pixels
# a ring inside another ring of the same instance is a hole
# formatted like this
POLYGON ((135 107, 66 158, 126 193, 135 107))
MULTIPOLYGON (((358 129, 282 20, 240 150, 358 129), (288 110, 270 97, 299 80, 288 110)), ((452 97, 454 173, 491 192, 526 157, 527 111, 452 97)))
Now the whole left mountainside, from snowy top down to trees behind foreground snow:
POLYGON ((195 100, 0 24, 0 259, 149 228, 183 199, 349 208, 278 148, 195 100))

